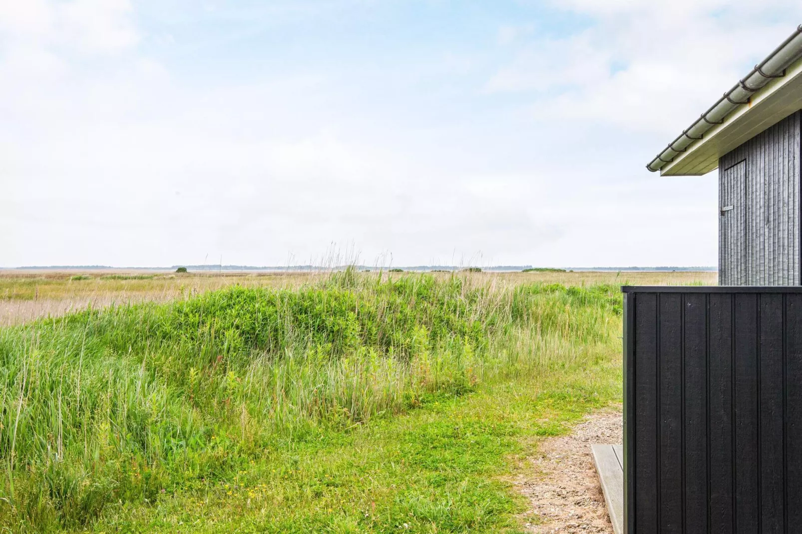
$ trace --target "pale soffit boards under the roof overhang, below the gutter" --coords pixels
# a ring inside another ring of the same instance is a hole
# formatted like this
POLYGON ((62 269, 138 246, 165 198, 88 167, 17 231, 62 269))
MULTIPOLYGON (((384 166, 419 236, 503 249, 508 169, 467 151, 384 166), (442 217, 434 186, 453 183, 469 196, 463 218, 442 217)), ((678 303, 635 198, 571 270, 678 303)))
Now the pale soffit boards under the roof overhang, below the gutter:
POLYGON ((662 176, 702 175, 719 166, 719 157, 731 152, 768 127, 802 109, 802 60, 751 96, 722 124, 705 133, 682 154, 660 169, 662 176))

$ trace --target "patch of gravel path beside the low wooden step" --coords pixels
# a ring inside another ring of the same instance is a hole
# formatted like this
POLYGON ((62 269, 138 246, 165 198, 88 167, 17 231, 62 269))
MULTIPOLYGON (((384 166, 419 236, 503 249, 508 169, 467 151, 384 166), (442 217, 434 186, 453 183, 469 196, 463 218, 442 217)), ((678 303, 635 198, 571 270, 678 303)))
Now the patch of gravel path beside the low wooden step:
POLYGON ((526 532, 613 534, 599 486, 591 443, 622 443, 621 411, 597 411, 561 438, 546 439, 513 480, 530 501, 526 532))

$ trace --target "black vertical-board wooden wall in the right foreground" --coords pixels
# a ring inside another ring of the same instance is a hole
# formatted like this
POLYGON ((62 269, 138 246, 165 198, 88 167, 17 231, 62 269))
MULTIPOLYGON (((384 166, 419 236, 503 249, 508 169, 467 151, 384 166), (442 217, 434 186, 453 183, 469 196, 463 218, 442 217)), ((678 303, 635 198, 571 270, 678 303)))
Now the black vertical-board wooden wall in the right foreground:
POLYGON ((802 288, 623 291, 625 532, 802 532, 802 288))

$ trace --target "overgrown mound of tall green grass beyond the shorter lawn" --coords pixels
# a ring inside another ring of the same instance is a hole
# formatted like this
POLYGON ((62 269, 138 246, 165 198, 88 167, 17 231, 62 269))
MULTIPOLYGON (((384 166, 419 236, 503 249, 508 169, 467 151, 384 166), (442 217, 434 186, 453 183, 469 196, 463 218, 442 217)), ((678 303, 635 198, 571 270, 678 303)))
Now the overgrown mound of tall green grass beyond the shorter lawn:
POLYGON ((0 527, 81 528, 277 442, 569 366, 620 313, 612 286, 347 270, 0 330, 0 527))

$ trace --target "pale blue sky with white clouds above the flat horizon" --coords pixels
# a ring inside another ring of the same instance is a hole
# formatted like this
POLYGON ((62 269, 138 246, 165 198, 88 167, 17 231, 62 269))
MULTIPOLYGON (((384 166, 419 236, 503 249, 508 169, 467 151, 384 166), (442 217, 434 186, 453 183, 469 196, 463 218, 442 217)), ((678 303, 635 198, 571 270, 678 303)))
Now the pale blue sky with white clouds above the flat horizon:
POLYGON ((716 265, 646 164, 798 0, 0 0, 0 266, 716 265))

